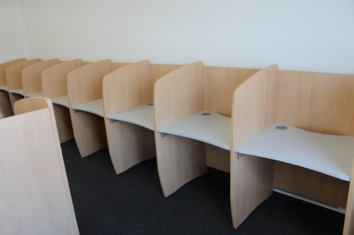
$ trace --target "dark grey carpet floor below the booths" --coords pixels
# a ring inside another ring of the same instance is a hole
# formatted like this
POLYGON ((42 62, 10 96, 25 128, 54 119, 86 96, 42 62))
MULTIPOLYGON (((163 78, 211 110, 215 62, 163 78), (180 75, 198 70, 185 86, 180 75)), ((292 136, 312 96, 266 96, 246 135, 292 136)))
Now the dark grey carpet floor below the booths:
POLYGON ((81 235, 342 234, 344 215, 280 193, 232 227, 229 174, 207 174, 164 198, 156 158, 116 175, 108 149, 84 159, 74 140, 62 144, 81 235))

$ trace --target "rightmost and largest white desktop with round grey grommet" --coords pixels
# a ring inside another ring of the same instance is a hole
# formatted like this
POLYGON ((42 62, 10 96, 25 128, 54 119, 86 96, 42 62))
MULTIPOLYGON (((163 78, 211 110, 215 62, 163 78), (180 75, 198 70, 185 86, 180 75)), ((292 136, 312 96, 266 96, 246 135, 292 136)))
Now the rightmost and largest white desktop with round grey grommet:
POLYGON ((350 181, 354 136, 324 135, 274 123, 235 147, 234 152, 275 159, 350 181), (276 126, 286 126, 287 130, 276 126))

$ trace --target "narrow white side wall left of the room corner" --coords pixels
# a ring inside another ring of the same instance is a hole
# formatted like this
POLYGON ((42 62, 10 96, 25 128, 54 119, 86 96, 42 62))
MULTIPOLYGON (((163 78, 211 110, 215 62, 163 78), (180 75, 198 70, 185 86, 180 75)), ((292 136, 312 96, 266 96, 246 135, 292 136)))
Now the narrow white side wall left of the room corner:
MULTIPOLYGON (((18 0, 0 1, 0 64, 19 58, 30 59, 18 0)), ((0 109, 0 118, 1 118, 0 109)))

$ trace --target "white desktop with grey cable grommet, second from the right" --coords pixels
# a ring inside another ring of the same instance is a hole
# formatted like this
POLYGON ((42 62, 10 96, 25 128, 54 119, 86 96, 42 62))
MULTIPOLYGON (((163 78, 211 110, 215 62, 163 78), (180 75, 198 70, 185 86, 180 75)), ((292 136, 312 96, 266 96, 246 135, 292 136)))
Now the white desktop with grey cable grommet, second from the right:
POLYGON ((202 111, 162 126, 157 131, 200 140, 230 150, 231 118, 215 112, 202 111), (203 113, 210 115, 203 116, 203 113))

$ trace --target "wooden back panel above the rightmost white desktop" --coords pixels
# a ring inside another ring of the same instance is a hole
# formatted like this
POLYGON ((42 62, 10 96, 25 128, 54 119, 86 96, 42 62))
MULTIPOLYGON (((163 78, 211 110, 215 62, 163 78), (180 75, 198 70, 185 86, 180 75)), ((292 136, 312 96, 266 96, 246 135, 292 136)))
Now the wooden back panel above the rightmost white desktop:
POLYGON ((278 71, 276 122, 329 135, 354 135, 354 75, 278 71))

